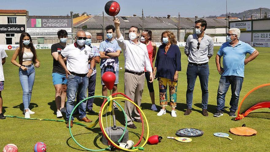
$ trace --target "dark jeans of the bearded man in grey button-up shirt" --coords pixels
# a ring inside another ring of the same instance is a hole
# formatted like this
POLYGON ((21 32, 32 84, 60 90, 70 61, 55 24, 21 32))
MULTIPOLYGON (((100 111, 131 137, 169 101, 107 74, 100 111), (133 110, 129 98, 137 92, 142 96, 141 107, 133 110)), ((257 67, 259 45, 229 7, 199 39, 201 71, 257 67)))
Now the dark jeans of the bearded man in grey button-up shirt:
POLYGON ((192 108, 193 90, 195 81, 199 76, 201 89, 202 89, 202 109, 207 109, 208 103, 208 78, 209 78, 209 65, 193 65, 187 64, 187 108, 192 108))

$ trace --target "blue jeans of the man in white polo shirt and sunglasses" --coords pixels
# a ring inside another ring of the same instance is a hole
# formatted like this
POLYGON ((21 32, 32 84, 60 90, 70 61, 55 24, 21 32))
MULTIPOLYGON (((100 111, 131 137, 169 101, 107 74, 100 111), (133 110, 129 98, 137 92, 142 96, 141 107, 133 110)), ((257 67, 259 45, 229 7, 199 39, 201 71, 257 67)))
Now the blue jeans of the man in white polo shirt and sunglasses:
MULTIPOLYGON (((84 77, 68 75, 67 76, 67 121, 69 120, 71 111, 74 108, 74 102, 76 98, 76 93, 79 95, 79 101, 87 97, 88 78, 86 75, 84 77)), ((79 105, 79 118, 82 119, 86 116, 86 101, 79 105)), ((74 120, 73 116, 71 120, 74 120)))

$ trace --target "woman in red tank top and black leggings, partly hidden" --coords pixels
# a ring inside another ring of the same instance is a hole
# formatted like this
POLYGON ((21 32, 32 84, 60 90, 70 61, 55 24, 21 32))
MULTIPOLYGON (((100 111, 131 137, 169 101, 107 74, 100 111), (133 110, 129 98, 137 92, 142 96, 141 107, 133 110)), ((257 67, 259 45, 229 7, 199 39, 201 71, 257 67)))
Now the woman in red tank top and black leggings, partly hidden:
MULTIPOLYGON (((156 57, 156 44, 153 43, 151 40, 152 40, 152 31, 147 30, 147 29, 142 31, 142 33, 141 33, 141 42, 144 43, 146 45, 146 47, 147 47, 151 67, 153 69, 153 61, 155 60, 155 57, 156 57)), ((150 95, 150 98, 151 98, 151 101, 152 101, 151 110, 157 111, 156 104, 155 104, 154 87, 153 87, 153 83, 149 82, 150 81, 149 76, 150 76, 149 72, 145 72, 145 78, 146 78, 146 82, 147 82, 147 87, 148 87, 149 95, 150 95)))

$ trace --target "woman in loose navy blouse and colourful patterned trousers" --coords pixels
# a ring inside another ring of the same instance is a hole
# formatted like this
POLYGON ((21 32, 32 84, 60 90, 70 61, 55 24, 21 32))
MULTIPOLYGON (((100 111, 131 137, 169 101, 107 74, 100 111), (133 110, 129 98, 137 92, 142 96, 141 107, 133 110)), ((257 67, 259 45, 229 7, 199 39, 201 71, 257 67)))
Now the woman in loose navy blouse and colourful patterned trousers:
POLYGON ((177 99, 177 80, 178 71, 181 71, 181 53, 176 45, 177 41, 171 31, 165 31, 161 34, 161 43, 157 54, 154 68, 154 78, 159 81, 160 106, 162 109, 158 116, 166 114, 165 107, 167 103, 167 84, 170 92, 170 106, 172 107, 172 117, 176 117, 176 99, 177 99), (156 73, 156 75, 155 75, 156 73))

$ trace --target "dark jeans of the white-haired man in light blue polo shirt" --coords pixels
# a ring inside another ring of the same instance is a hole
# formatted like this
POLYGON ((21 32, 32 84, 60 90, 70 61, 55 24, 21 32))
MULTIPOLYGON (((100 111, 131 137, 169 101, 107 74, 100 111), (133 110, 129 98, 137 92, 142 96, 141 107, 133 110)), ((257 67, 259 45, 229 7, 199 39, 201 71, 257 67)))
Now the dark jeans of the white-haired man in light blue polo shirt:
POLYGON ((217 110, 224 111, 225 96, 231 85, 232 97, 230 100, 230 111, 236 112, 243 80, 244 78, 240 76, 220 77, 217 95, 217 110))

